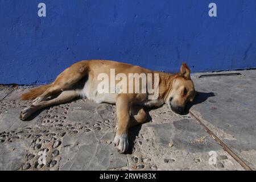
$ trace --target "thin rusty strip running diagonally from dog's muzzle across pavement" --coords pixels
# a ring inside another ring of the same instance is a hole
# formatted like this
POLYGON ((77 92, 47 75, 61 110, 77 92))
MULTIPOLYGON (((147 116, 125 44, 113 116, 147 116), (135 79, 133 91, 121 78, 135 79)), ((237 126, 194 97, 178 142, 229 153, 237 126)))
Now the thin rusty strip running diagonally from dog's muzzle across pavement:
POLYGON ((207 130, 207 133, 210 135, 210 137, 212 137, 214 140, 216 140, 216 142, 218 144, 220 144, 220 146, 229 153, 229 155, 232 156, 232 158, 234 158, 246 171, 253 171, 249 166, 247 166, 247 164, 245 162, 243 162, 242 159, 240 159, 240 157, 238 157, 224 142, 221 141, 221 139, 219 139, 212 131, 210 131, 210 129, 208 129, 207 126, 204 125, 204 123, 196 117, 195 114, 193 114, 191 111, 189 111, 189 114, 196 119, 196 121, 198 121, 200 123, 201 126, 204 127, 205 130, 207 130))

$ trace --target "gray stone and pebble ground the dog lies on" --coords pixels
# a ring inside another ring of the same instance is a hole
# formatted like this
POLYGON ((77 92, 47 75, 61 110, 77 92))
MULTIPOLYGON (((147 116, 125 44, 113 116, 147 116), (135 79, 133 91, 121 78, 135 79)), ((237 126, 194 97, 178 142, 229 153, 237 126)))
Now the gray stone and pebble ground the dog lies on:
MULTIPOLYGON (((256 169, 256 71, 237 72, 242 75, 194 74, 199 95, 188 109, 256 169)), ((19 101, 27 89, 0 87, 0 170, 244 170, 191 114, 166 105, 148 110, 150 122, 130 129, 129 150, 119 154, 112 143, 114 105, 77 100, 20 121, 19 110, 31 103, 19 101)))

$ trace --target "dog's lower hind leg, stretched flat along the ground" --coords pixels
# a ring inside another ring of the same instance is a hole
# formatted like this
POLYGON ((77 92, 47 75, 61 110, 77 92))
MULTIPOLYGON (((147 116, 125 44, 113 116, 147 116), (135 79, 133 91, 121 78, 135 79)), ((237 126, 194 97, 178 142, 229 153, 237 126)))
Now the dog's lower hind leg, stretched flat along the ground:
POLYGON ((78 96, 79 94, 76 90, 65 90, 61 92, 61 94, 58 97, 53 98, 52 100, 41 101, 37 104, 33 103, 31 106, 28 106, 25 109, 21 110, 19 118, 24 121, 25 119, 30 117, 31 114, 35 113, 35 111, 39 109, 43 109, 44 107, 48 107, 51 105, 63 104, 65 102, 72 101, 78 96))

